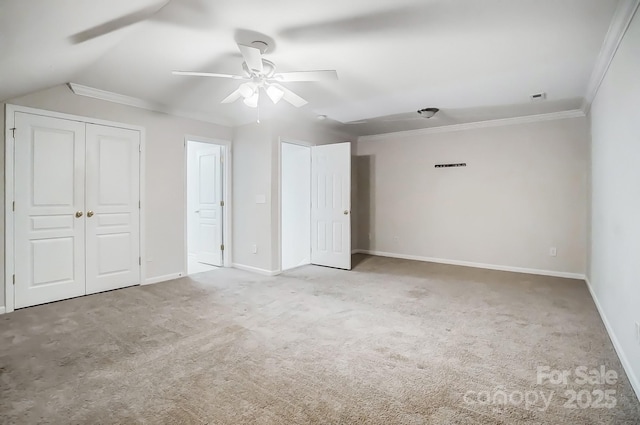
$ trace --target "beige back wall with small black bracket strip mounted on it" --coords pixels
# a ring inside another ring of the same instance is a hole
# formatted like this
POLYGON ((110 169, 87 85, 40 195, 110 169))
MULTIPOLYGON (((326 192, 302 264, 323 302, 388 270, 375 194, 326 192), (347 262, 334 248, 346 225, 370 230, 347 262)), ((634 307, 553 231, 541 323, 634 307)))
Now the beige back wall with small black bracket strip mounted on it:
POLYGON ((584 275, 587 149, 585 118, 361 138, 358 248, 584 275))

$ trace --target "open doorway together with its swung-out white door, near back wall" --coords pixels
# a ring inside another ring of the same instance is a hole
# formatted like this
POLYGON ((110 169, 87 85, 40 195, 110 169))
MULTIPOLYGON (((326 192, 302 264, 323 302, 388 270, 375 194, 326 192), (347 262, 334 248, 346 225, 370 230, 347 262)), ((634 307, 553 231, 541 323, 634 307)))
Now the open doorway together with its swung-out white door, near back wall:
POLYGON ((351 145, 281 141, 281 270, 351 269, 351 145))

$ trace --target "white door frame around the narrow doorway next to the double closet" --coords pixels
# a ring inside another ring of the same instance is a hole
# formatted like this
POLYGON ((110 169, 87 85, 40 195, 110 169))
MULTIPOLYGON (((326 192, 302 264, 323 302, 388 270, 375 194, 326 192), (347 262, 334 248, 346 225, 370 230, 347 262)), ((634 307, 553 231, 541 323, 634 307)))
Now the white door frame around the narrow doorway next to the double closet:
POLYGON ((187 210, 187 178, 189 174, 189 170, 187 169, 189 163, 189 152, 188 145, 189 142, 199 142, 199 143, 208 143, 211 145, 218 145, 222 148, 222 200, 224 201, 224 207, 222 207, 222 244, 224 245, 224 251, 222 253, 222 267, 231 267, 232 264, 232 240, 231 237, 231 229, 232 229, 232 217, 233 217, 233 203, 232 203, 232 194, 231 188, 231 177, 232 177, 232 149, 231 149, 231 141, 223 140, 223 139, 212 139, 208 137, 202 136, 194 136, 191 134, 186 134, 184 136, 184 275, 187 276, 189 272, 189 228, 188 228, 188 218, 189 211, 187 210))

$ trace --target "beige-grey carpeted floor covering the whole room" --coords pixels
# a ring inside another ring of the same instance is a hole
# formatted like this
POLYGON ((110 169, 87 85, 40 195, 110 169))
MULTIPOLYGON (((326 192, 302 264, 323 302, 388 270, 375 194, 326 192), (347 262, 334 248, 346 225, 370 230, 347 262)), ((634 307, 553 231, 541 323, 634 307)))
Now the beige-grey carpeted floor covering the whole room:
POLYGON ((0 423, 640 423, 584 282, 355 260, 0 316, 0 423))

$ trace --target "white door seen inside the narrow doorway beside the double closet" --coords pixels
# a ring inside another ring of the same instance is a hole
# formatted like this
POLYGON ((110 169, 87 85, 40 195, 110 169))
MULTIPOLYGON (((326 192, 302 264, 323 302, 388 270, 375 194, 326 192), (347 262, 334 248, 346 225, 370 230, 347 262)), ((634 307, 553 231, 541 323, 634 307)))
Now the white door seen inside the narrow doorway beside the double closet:
MULTIPOLYGON (((202 146, 202 145, 200 145, 202 146)), ((196 151, 196 259, 222 266, 222 162, 221 147, 207 145, 196 151)))

